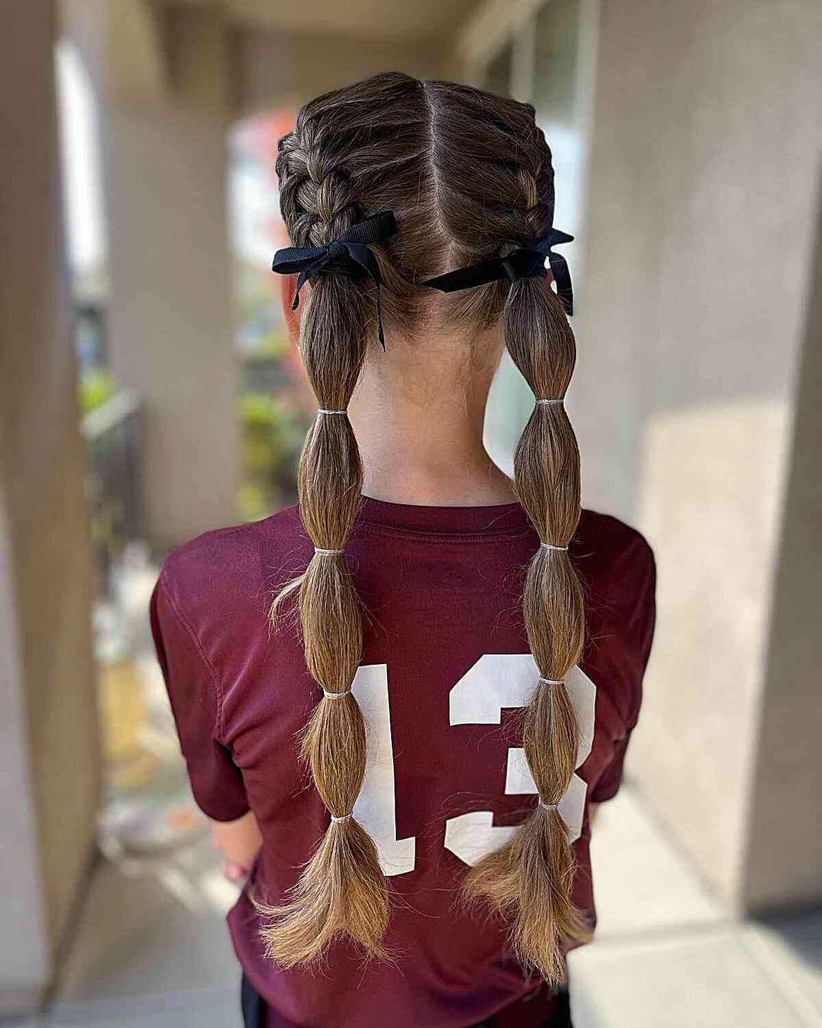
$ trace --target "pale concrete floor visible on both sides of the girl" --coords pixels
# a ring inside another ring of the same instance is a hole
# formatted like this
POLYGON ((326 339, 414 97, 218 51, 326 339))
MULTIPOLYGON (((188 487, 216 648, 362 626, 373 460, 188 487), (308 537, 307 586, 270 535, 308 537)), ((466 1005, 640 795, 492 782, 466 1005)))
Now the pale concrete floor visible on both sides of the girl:
MULTIPOLYGON (((571 955, 576 1028, 819 1028, 822 915, 730 921, 626 786, 603 806, 600 928, 571 955)), ((233 887, 203 839, 101 861, 51 1012, 31 1028, 239 1028, 223 924, 233 887)))

